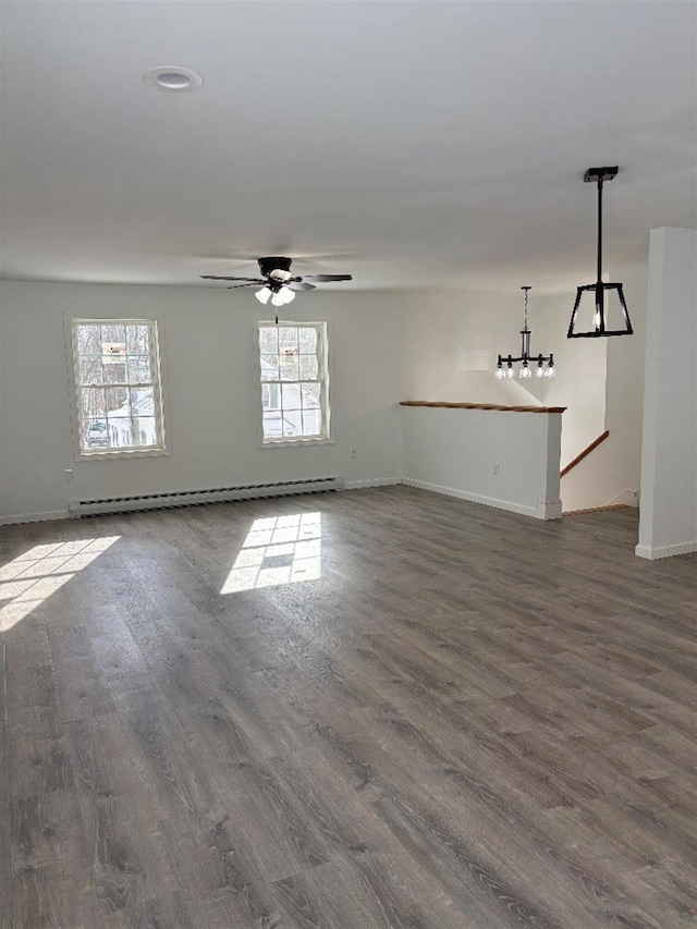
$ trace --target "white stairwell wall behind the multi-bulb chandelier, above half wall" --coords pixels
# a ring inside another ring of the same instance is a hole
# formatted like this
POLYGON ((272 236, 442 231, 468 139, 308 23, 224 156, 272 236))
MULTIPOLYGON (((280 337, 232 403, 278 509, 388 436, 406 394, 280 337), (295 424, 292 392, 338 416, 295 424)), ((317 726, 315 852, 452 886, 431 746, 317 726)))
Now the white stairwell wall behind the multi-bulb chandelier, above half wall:
MULTIPOLYGON (((572 461, 606 428, 610 438, 561 485, 564 510, 635 503, 639 486, 646 317, 646 265, 610 268, 624 284, 635 334, 567 339, 576 284, 552 296, 530 294, 531 350, 554 354, 557 377, 522 384, 490 375, 499 352, 516 354, 522 327, 519 292, 425 293, 405 300, 404 396, 503 404, 565 406, 561 463, 572 461)), ((589 280, 592 271, 589 272, 589 280)))

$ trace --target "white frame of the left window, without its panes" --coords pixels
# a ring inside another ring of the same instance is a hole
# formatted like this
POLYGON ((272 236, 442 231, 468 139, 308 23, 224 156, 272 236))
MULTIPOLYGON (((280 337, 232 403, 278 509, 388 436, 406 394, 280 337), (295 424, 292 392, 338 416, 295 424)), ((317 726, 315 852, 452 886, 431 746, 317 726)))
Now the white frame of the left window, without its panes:
POLYGON ((98 461, 124 461, 129 459, 140 457, 158 457, 160 455, 169 455, 169 430, 167 427, 167 394, 164 389, 164 372, 162 364, 162 346, 163 346, 163 326, 162 320, 158 317, 112 317, 112 316, 94 316, 94 317, 64 317, 65 323, 65 349, 68 356, 68 375, 70 386, 70 408, 71 408, 71 428, 73 439, 73 457, 76 462, 98 462, 98 461), (80 407, 80 387, 78 387, 78 363, 80 353, 77 351, 77 327, 81 325, 91 326, 147 326, 150 332, 149 339, 149 355, 151 372, 155 377, 152 381, 154 388, 154 416, 158 428, 160 441, 157 445, 114 449, 106 448, 94 451, 88 451, 83 448, 82 436, 82 416, 80 407))

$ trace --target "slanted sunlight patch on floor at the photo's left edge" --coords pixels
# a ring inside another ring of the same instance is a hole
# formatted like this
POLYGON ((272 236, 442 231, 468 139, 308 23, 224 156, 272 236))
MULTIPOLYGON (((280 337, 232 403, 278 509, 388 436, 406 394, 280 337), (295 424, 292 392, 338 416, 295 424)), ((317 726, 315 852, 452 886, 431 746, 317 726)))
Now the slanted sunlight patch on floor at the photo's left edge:
POLYGON ((121 536, 35 546, 0 567, 0 631, 7 632, 121 536))

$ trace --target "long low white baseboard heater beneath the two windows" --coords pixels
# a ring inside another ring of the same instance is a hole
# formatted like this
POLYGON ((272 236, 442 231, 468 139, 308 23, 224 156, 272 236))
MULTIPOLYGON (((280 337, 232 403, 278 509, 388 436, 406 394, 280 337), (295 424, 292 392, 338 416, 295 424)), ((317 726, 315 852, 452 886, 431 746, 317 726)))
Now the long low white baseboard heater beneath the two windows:
POLYGON ((171 506, 194 506, 201 503, 230 503, 235 500, 256 500, 261 497, 291 497, 296 493, 321 493, 343 490, 343 477, 314 477, 308 480, 284 480, 276 484, 245 484, 237 487, 217 487, 209 490, 179 490, 170 493, 146 493, 142 497, 105 497, 100 500, 71 500, 71 519, 106 513, 132 513, 140 510, 163 510, 171 506))

